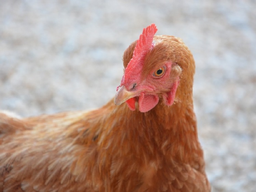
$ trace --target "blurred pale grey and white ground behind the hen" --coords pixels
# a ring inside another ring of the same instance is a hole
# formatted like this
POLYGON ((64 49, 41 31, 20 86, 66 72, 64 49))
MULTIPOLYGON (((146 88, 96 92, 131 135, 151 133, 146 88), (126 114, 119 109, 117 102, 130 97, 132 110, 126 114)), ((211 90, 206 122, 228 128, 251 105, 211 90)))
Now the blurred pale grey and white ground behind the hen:
POLYGON ((254 0, 0 0, 0 109, 100 107, 123 51, 155 23, 196 60, 194 105, 212 191, 256 190, 254 0))

